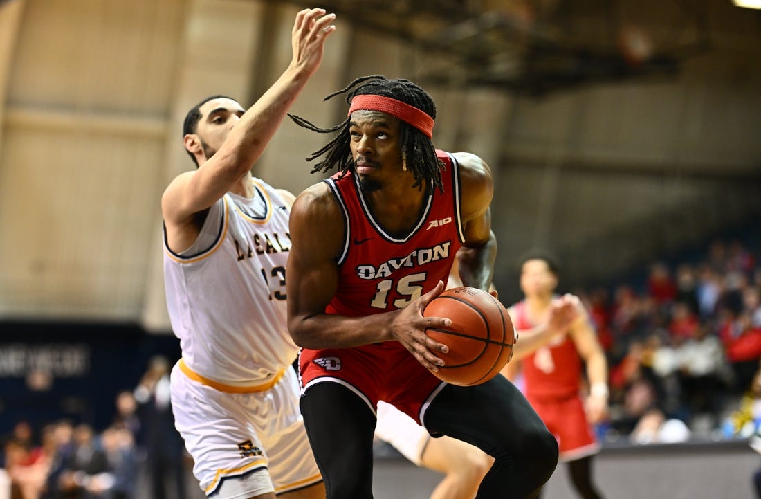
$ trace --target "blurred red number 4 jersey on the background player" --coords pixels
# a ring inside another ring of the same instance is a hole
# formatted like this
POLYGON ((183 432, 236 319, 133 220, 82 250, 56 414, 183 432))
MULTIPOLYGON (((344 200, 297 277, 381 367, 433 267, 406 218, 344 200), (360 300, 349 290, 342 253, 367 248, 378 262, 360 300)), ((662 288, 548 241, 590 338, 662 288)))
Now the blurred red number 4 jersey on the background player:
MULTIPOLYGON (((513 305, 514 325, 518 330, 534 327, 527 316, 526 302, 513 305)), ((518 339, 518 341, 521 341, 518 339)), ((540 347, 522 360, 527 398, 540 400, 578 395, 581 357, 568 334, 540 347)))

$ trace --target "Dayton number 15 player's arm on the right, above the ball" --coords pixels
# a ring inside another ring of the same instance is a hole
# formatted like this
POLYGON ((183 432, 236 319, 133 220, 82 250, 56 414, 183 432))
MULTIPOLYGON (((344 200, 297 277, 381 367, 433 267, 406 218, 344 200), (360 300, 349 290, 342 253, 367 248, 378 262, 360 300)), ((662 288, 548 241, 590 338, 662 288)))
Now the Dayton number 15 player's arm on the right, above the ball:
POLYGON ((489 165, 470 152, 456 152, 460 164, 461 215, 465 241, 457 251, 457 266, 463 286, 489 290, 494 276, 497 239, 492 232, 489 206, 494 180, 489 165))

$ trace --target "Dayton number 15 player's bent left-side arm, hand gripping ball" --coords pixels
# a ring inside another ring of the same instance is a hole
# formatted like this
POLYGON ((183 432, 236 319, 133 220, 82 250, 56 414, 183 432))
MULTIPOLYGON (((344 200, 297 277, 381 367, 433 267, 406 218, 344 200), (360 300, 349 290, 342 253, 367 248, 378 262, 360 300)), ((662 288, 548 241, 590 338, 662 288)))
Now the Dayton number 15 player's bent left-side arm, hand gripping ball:
POLYGON ((291 207, 291 251, 285 270, 288 293, 288 330, 300 347, 345 348, 398 340, 428 369, 443 361, 435 351, 443 344, 425 334, 425 328, 444 327, 447 318, 425 318, 425 305, 444 290, 444 283, 403 309, 361 317, 326 314, 338 289, 344 217, 330 187, 324 182, 304 190, 291 207))

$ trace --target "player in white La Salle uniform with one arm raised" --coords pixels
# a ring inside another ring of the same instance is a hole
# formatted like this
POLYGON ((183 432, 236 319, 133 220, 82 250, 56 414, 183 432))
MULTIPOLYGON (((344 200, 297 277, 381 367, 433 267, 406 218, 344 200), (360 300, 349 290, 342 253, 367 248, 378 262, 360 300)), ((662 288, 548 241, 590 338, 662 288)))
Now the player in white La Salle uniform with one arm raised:
POLYGON ((221 96, 190 110, 183 142, 198 169, 161 199, 167 305, 183 352, 170 393, 209 497, 325 497, 285 327, 293 197, 250 168, 320 66, 334 18, 320 8, 297 14, 291 63, 248 110, 221 96))

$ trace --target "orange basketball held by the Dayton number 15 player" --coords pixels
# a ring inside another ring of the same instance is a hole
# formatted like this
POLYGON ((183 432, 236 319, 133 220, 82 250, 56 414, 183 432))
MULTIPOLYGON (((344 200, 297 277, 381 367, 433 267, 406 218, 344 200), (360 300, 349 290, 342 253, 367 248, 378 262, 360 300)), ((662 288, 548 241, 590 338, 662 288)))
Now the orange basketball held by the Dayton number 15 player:
POLYGON ((423 310, 425 317, 446 317, 447 328, 425 332, 449 347, 438 372, 453 385, 480 385, 497 376, 513 356, 515 330, 505 307, 488 292, 468 286, 447 289, 423 310))

